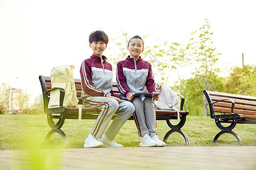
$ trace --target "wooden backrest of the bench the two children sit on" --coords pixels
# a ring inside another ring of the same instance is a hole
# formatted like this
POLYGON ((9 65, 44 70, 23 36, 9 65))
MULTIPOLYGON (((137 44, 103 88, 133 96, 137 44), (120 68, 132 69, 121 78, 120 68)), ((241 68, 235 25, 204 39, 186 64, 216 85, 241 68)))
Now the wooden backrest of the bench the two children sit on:
MULTIPOLYGON (((51 76, 43 76, 40 75, 39 76, 40 82, 41 82, 41 86, 42 86, 42 90, 43 90, 43 94, 45 92, 47 92, 48 90, 50 90, 52 88, 52 83, 51 83, 51 76)), ((119 94, 119 90, 117 88, 117 82, 113 82, 113 92, 115 95, 119 94)), ((81 100, 81 91, 82 91, 82 86, 81 86, 81 79, 75 79, 75 86, 76 86, 76 96, 77 99, 79 99, 79 104, 82 104, 82 100, 81 100)), ((45 96, 43 96, 44 98, 44 108, 47 108, 45 106, 48 105, 49 103, 49 96, 50 96, 50 92, 48 94, 46 94, 45 96)))

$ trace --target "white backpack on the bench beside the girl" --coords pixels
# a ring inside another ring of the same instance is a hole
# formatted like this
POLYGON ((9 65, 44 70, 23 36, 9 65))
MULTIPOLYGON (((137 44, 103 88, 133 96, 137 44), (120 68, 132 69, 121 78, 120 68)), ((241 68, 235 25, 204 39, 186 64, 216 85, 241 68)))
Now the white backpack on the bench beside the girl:
POLYGON ((177 94, 166 85, 156 88, 160 94, 159 100, 155 101, 155 109, 169 110, 177 112, 177 119, 180 120, 180 98, 177 94))

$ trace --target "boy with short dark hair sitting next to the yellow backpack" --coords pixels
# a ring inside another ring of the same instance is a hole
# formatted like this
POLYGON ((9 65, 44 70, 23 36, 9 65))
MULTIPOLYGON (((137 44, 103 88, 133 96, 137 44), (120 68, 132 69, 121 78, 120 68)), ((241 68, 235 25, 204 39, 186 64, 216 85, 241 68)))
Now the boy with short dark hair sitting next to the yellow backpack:
POLYGON ((101 110, 89 136, 85 139, 84 147, 123 147, 113 140, 135 110, 132 103, 120 100, 112 91, 112 65, 106 61, 105 56, 102 56, 108 42, 108 35, 104 31, 92 32, 89 36, 89 46, 93 54, 81 64, 81 99, 84 107, 101 110), (116 112, 117 116, 106 130, 116 112))

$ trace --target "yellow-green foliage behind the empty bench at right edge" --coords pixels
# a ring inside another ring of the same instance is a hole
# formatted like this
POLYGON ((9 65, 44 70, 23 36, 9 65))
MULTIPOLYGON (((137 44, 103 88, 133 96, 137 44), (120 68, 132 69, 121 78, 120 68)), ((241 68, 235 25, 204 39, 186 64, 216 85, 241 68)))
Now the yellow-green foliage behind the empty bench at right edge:
POLYGON ((225 87, 224 92, 256 96, 256 66, 234 67, 225 87))

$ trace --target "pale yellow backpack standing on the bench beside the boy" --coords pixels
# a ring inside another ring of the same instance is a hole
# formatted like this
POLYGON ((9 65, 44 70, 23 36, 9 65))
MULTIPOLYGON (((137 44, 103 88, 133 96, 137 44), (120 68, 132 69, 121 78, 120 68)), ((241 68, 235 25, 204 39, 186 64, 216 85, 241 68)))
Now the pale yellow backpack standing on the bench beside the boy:
MULTIPOLYGON (((63 65, 53 67, 51 71, 51 82, 53 87, 61 87, 65 90, 63 101, 64 107, 78 107, 79 100, 76 97, 76 86, 73 76, 74 66, 63 65)), ((51 92, 48 108, 60 107, 60 91, 51 92)))

